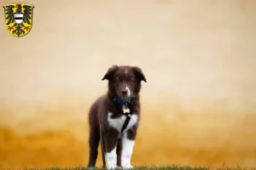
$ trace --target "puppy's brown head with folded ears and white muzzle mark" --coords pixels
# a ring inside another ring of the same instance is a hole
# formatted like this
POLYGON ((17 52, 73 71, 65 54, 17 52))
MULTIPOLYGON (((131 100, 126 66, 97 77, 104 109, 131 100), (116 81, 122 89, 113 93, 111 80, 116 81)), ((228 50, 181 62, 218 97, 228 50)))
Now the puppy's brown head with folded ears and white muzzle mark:
POLYGON ((124 101, 136 98, 141 89, 141 81, 147 82, 139 67, 127 65, 113 65, 102 78, 105 79, 108 80, 109 93, 124 101))

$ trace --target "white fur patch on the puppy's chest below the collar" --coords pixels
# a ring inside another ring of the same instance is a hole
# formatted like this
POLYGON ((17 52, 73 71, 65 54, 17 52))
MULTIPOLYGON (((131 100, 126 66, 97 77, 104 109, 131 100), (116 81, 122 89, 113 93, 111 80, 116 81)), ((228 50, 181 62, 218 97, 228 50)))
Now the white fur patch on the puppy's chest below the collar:
MULTIPOLYGON (((125 119, 126 116, 119 116, 117 118, 111 118, 113 113, 108 112, 108 124, 110 127, 115 128, 116 130, 119 131, 119 133, 121 133, 121 129, 125 123, 125 119)), ((131 127, 133 127, 134 125, 136 125, 137 123, 137 115, 132 115, 130 122, 128 123, 127 127, 125 128, 124 132, 127 131, 128 129, 130 129, 131 127)))

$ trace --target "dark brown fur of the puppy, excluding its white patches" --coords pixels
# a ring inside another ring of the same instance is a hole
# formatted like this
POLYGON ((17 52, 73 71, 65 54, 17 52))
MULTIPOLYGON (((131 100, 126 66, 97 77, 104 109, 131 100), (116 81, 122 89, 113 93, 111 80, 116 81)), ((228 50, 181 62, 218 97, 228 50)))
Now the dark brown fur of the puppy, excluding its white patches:
MULTIPOLYGON (((124 94, 126 94, 125 87, 130 88, 131 98, 133 99, 133 104, 129 105, 129 108, 133 111, 133 114, 138 116, 138 122, 140 119, 139 92, 141 89, 141 81, 146 82, 142 70, 136 66, 113 65, 102 78, 102 80, 105 79, 108 80, 108 94, 96 99, 89 113, 90 158, 88 167, 95 167, 96 165, 98 155, 97 148, 101 137, 103 166, 105 166, 104 154, 113 150, 115 145, 117 146, 117 165, 121 165, 122 144, 119 139, 119 132, 108 125, 108 112, 113 113, 111 118, 122 116, 121 105, 113 102, 113 98, 122 100, 128 99, 124 96, 124 94)), ((128 139, 136 139, 138 122, 135 126, 131 127, 131 129, 127 130, 128 139)))

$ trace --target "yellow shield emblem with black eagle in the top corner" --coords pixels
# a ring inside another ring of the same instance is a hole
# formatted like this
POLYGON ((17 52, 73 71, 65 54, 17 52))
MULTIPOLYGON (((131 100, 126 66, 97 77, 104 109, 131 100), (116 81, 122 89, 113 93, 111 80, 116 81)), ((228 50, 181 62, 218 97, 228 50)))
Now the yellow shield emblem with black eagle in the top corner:
POLYGON ((3 6, 5 27, 12 36, 24 37, 32 29, 32 4, 9 3, 3 6))

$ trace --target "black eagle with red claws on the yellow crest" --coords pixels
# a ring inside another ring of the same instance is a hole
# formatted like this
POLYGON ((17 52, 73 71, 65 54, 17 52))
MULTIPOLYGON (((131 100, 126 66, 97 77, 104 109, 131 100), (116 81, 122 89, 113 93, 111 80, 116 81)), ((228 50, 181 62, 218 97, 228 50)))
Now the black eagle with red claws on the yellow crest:
POLYGON ((21 34, 25 34, 25 31, 29 31, 31 29, 30 26, 24 26, 23 22, 31 25, 32 23, 30 22, 30 20, 32 19, 31 14, 32 14, 32 8, 33 6, 28 6, 28 5, 23 5, 24 11, 22 13, 22 8, 21 8, 21 4, 16 4, 16 5, 8 5, 5 6, 5 14, 6 14, 6 20, 7 23, 6 25, 8 26, 8 30, 12 31, 13 34, 16 34, 17 36, 20 37, 21 34), (14 8, 16 9, 16 12, 14 13, 14 8), (23 14, 22 17, 22 22, 20 24, 17 24, 15 22, 15 14, 23 14), (15 24, 13 26, 9 26, 10 24, 13 24, 15 22, 15 24), (24 30, 23 30, 23 29, 24 30))

